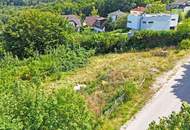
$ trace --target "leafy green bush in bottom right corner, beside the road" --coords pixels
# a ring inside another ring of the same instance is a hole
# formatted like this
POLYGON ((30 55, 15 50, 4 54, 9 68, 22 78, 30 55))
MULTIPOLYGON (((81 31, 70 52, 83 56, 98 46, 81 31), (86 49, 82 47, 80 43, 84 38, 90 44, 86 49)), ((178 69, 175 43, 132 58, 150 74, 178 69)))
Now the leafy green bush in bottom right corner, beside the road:
POLYGON ((184 103, 179 113, 172 113, 169 118, 162 118, 159 124, 152 122, 149 130, 189 130, 190 105, 184 103))

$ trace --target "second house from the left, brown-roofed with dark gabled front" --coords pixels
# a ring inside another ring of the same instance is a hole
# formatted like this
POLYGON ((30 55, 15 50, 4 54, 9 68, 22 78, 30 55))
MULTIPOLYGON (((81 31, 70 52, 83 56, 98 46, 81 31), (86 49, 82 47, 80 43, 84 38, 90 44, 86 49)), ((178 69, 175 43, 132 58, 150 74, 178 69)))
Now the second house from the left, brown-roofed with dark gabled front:
POLYGON ((99 16, 88 16, 84 20, 84 26, 91 27, 96 32, 105 31, 106 18, 99 16))

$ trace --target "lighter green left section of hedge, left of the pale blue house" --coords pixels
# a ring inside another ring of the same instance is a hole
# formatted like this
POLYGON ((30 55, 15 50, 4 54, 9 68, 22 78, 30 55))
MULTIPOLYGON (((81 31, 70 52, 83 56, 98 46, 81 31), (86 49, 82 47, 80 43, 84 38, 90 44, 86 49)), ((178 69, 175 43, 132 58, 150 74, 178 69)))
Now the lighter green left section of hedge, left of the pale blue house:
POLYGON ((74 35, 72 43, 78 43, 81 47, 89 50, 95 49, 96 54, 121 52, 125 48, 128 35, 124 33, 94 33, 85 32, 74 35))

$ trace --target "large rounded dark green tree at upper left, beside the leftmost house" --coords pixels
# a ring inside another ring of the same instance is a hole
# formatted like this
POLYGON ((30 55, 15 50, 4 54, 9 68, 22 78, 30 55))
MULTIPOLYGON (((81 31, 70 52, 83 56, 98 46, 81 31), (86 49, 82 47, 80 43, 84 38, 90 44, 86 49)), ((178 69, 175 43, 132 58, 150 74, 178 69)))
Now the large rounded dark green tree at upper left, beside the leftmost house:
POLYGON ((59 15, 39 10, 24 10, 8 20, 3 30, 6 51, 18 57, 43 54, 47 48, 66 44, 73 27, 59 15))

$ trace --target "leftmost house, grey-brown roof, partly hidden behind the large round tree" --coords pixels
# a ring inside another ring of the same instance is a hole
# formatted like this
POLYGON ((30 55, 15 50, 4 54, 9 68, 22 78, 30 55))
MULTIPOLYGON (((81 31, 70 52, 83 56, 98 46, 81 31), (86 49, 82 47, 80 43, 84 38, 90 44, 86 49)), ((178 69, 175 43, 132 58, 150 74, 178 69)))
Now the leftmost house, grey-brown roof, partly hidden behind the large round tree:
POLYGON ((82 27, 81 20, 78 16, 75 15, 63 15, 71 25, 76 27, 77 31, 80 31, 80 28, 82 27))

